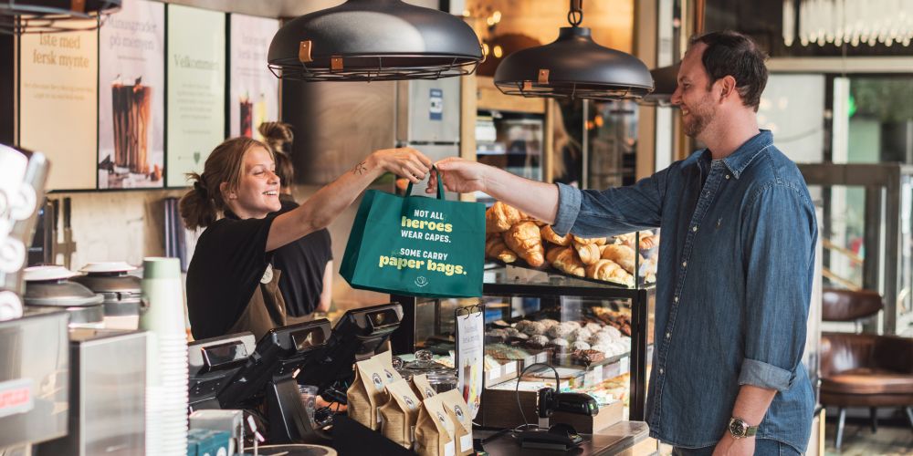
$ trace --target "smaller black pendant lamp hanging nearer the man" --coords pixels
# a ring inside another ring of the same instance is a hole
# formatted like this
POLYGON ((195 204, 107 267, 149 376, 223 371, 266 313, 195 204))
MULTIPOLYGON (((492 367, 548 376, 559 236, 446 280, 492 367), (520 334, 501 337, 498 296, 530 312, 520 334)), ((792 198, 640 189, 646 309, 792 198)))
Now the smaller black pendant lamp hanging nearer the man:
POLYGON ((569 27, 551 44, 517 51, 498 65, 495 86, 507 95, 535 98, 634 99, 653 90, 644 62, 593 42, 580 26, 582 0, 571 0, 569 27))

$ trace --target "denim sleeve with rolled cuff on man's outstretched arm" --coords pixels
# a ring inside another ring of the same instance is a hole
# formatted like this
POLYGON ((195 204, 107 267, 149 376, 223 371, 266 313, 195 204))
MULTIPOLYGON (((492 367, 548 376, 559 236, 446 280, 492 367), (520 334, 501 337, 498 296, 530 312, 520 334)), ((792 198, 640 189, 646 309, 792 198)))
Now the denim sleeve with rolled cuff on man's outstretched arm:
POLYGON ((668 169, 627 187, 579 190, 558 183, 558 213, 552 229, 585 237, 630 233, 659 226, 668 169))

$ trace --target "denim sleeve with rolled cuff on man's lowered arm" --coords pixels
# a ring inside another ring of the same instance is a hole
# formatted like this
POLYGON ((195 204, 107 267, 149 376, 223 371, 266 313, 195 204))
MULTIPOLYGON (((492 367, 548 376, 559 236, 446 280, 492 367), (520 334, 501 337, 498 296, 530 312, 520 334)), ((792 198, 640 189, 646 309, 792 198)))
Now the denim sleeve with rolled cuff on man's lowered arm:
POLYGON ((742 221, 745 358, 740 385, 790 389, 805 346, 817 224, 807 193, 776 182, 757 192, 742 221))

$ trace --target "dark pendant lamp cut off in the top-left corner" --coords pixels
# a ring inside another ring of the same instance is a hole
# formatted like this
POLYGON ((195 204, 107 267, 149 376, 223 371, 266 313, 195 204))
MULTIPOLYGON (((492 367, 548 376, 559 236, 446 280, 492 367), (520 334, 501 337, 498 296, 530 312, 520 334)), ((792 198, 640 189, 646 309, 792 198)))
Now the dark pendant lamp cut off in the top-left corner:
POLYGON ((0 0, 0 33, 95 30, 119 9, 121 0, 0 0))

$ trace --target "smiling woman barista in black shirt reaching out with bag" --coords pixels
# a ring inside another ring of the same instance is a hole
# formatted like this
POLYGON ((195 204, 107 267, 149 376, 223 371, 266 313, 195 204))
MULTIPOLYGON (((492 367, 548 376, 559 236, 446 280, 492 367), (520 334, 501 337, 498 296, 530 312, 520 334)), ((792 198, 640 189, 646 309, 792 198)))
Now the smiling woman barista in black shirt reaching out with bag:
POLYGON ((390 171, 421 181, 431 161, 411 148, 376 150, 298 208, 281 208, 280 181, 268 148, 232 138, 213 150, 194 189, 181 199, 190 229, 205 228, 187 271, 187 308, 194 338, 251 331, 259 338, 286 324, 273 251, 325 228, 371 182, 390 171), (219 218, 221 216, 221 218, 219 218))

